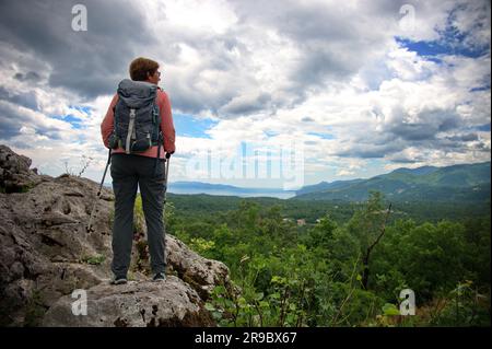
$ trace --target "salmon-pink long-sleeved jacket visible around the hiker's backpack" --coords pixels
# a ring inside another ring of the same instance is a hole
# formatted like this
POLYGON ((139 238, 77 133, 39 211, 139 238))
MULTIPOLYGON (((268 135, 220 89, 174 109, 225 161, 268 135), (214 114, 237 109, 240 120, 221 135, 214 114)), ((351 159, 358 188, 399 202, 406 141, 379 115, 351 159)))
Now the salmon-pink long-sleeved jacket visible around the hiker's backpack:
MULTIPOLYGON (((103 136, 103 142, 106 148, 109 149, 109 136, 113 132, 114 123, 115 123, 115 114, 113 112, 114 106, 118 102, 118 94, 115 94, 113 97, 112 103, 109 104, 109 107, 107 108, 106 116, 103 119, 103 123, 101 124, 101 135, 103 136)), ((161 131, 164 136, 164 148, 161 146, 161 159, 164 159, 165 152, 174 153, 175 148, 175 139, 176 139, 176 131, 174 129, 173 124, 173 116, 171 114, 171 102, 167 94, 162 91, 157 90, 157 105, 159 105, 159 112, 161 115, 161 131)), ((113 149, 112 154, 117 153, 125 153, 125 149, 118 148, 113 149)), ((151 149, 138 153, 138 155, 142 156, 150 156, 150 158, 157 158, 157 146, 153 146, 151 149)))

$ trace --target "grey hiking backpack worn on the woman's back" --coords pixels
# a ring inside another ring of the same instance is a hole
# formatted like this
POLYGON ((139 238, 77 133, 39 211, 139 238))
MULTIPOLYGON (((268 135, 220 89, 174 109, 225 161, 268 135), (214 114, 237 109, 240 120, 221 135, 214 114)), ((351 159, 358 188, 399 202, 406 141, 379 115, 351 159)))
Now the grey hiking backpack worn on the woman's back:
POLYGON ((118 84, 117 92, 109 148, 122 148, 127 154, 144 152, 153 146, 161 150, 163 137, 156 103, 157 85, 125 79, 118 84))

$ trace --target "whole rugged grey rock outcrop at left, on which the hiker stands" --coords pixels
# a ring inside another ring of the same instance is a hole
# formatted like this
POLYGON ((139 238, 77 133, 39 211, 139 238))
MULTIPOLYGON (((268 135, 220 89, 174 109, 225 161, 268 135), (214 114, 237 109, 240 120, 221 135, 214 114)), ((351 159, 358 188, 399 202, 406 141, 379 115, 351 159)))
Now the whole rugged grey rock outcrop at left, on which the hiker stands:
MULTIPOLYGON (((213 325, 203 304, 229 282, 224 264, 166 234, 166 281, 134 270, 132 282, 109 286, 113 191, 103 188, 87 230, 98 184, 30 166, 0 146, 0 326, 213 325), (86 290, 86 316, 71 312, 75 289, 86 290)), ((138 255, 134 247, 132 260, 138 255)))

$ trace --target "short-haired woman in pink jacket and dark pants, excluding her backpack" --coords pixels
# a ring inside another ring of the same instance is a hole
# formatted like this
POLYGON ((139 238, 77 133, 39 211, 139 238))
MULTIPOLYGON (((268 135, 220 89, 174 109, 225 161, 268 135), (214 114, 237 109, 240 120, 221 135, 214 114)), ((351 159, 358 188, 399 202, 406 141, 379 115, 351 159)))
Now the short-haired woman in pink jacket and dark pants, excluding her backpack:
MULTIPOLYGON (((139 57, 130 63, 130 78, 134 82, 147 82, 157 88, 156 105, 161 118, 160 130, 163 144, 152 146, 139 153, 128 153, 121 147, 112 150, 112 177, 115 193, 115 220, 113 225, 113 283, 127 282, 133 242, 133 207, 137 186, 142 197, 142 208, 148 229, 149 251, 153 280, 165 280, 165 231, 163 223, 163 205, 165 187, 165 152, 175 152, 175 129, 167 94, 159 89, 161 72, 154 60, 139 57), (159 149, 161 148, 161 149, 159 149), (159 155, 159 159, 156 159, 159 155), (157 168, 155 168, 157 161, 157 168)), ((129 80, 127 80, 129 81, 129 80)), ((130 82, 131 83, 131 82, 130 82)), ((141 84, 140 85, 145 85, 141 84)), ((101 125, 101 132, 106 148, 115 126, 115 108, 119 95, 115 94, 101 125)), ((121 146, 121 144, 120 144, 121 146)))

